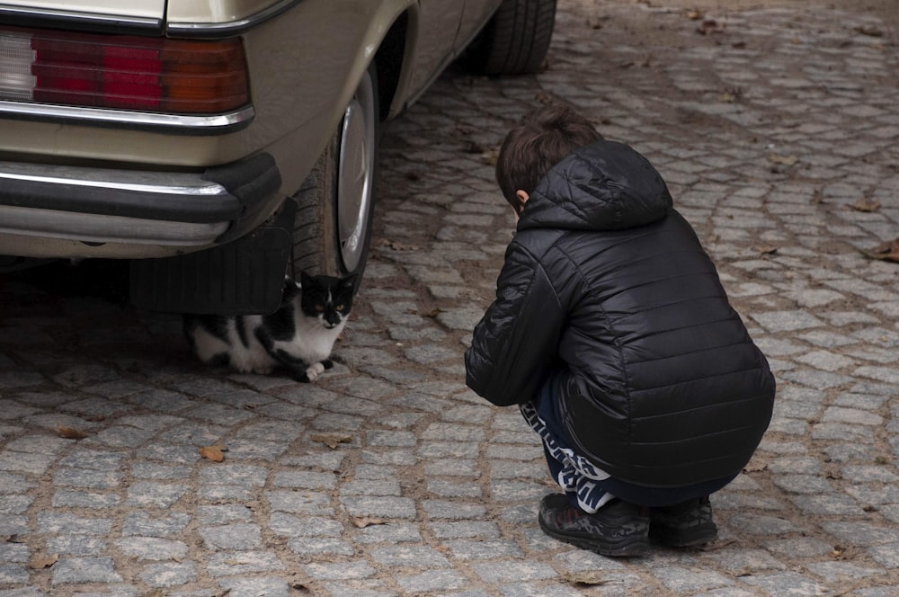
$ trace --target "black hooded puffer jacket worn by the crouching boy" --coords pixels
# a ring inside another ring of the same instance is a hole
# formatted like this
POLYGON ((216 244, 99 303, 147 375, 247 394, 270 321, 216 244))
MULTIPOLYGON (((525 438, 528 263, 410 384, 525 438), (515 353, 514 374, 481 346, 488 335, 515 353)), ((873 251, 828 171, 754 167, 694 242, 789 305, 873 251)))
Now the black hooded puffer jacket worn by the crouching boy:
POLYGON ((530 194, 466 369, 496 405, 555 376, 572 448, 640 486, 738 473, 774 401, 768 362, 662 177, 611 141, 530 194))

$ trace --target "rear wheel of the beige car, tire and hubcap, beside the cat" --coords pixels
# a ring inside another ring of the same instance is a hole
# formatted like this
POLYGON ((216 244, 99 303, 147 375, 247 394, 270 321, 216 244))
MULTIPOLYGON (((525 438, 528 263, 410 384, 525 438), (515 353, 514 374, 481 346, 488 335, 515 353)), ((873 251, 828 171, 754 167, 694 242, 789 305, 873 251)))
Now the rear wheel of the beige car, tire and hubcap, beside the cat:
POLYGON ((369 252, 375 197, 378 76, 372 65, 343 112, 315 168, 300 187, 288 273, 361 273, 369 252))

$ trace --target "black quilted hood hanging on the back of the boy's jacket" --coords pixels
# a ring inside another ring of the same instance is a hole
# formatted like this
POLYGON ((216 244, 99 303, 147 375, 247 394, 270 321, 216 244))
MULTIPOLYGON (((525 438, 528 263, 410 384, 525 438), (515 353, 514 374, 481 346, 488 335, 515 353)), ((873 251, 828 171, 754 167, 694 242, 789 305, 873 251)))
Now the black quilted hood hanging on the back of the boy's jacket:
POLYGON ((653 165, 631 147, 601 140, 553 166, 521 212, 519 230, 622 230, 662 219, 672 196, 653 165))

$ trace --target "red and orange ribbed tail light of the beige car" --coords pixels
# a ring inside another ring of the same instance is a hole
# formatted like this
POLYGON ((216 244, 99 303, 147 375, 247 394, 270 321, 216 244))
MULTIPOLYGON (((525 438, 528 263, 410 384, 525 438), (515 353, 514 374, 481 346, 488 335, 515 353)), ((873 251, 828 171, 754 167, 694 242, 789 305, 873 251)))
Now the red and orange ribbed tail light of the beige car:
POLYGON ((246 105, 240 40, 0 29, 0 100, 214 114, 246 105))

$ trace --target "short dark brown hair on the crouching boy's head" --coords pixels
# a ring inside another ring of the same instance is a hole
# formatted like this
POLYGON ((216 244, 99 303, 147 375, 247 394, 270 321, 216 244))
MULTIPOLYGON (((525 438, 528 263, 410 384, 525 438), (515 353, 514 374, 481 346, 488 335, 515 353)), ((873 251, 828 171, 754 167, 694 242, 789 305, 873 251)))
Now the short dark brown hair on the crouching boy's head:
POLYGON ((563 103, 531 111, 506 135, 496 159, 496 182, 503 197, 520 211, 515 192, 530 194, 554 165, 601 138, 590 120, 563 103))

